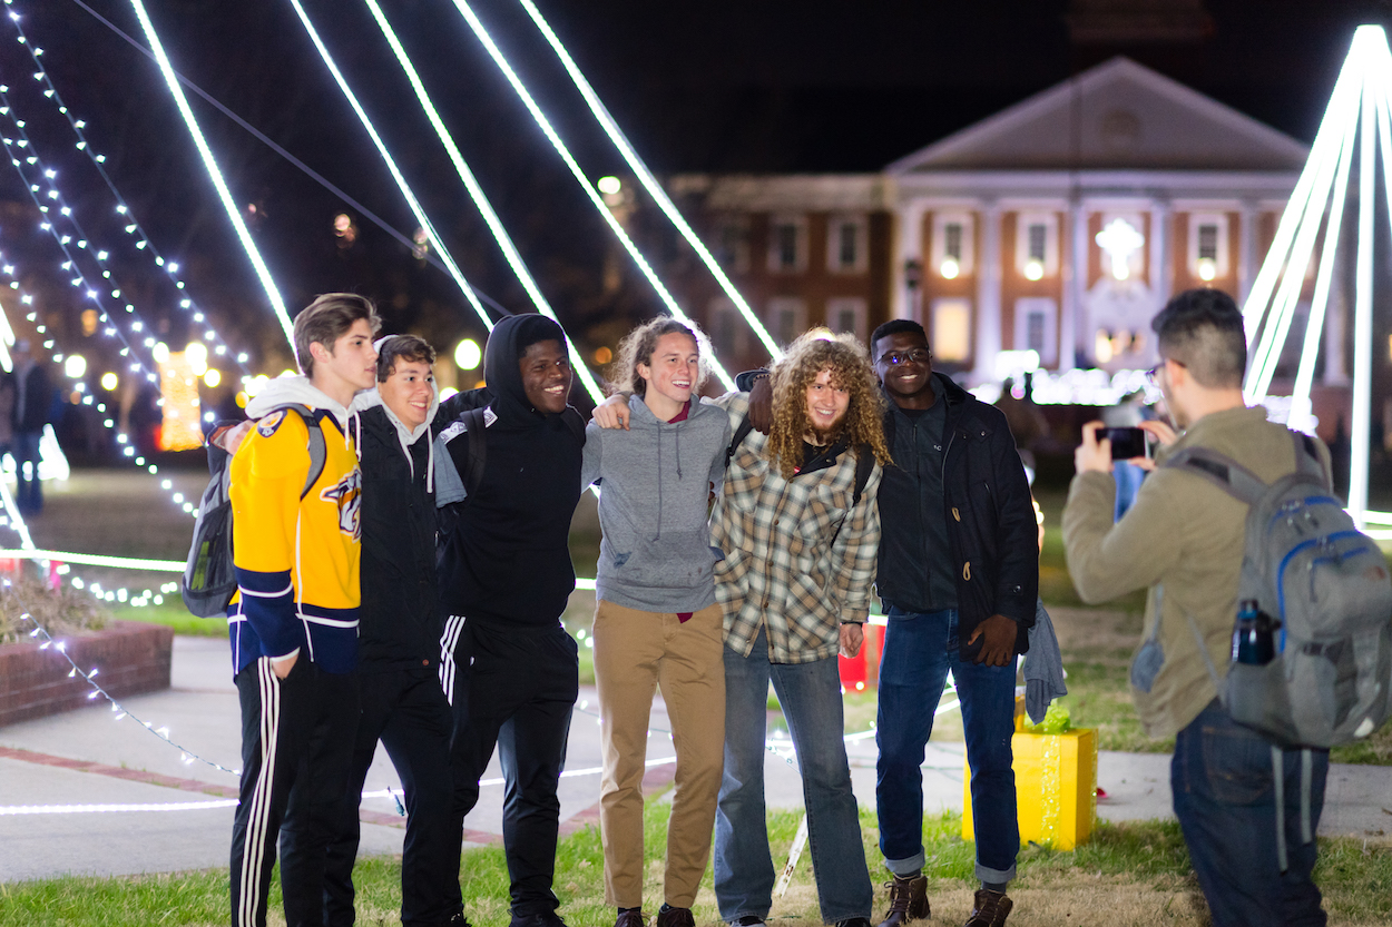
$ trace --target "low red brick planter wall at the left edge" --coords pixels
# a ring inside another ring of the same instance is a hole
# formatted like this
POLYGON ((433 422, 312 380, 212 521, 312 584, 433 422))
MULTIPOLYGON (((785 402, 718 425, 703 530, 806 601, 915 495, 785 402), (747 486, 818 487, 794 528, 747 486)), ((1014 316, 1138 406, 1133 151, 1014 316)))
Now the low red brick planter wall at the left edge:
MULTIPOLYGON (((104 631, 65 637, 68 653, 84 671, 100 667, 96 681, 113 697, 170 688, 174 632, 163 625, 113 621, 104 631)), ((0 725, 42 718, 90 704, 92 686, 68 678, 67 657, 38 643, 0 646, 0 725)))

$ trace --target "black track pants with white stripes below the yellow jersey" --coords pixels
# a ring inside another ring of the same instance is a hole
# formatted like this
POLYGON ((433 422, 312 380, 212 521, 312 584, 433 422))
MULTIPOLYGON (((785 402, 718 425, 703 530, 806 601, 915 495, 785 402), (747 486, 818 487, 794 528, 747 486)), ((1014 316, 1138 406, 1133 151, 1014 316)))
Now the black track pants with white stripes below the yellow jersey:
POLYGON ((263 927, 281 831, 288 927, 323 923, 324 850, 335 803, 348 788, 358 728, 358 678, 323 672, 301 654, 277 679, 262 657, 237 674, 242 707, 241 803, 232 820, 232 927, 263 927), (291 793, 295 814, 285 817, 291 793))

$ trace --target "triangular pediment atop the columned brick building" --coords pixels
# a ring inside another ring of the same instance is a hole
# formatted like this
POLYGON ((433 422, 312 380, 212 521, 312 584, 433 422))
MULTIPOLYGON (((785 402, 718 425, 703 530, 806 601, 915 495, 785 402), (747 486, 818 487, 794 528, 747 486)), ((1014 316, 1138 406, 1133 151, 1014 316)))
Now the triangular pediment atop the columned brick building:
POLYGON ((1116 57, 889 164, 962 170, 1299 170, 1310 149, 1116 57))

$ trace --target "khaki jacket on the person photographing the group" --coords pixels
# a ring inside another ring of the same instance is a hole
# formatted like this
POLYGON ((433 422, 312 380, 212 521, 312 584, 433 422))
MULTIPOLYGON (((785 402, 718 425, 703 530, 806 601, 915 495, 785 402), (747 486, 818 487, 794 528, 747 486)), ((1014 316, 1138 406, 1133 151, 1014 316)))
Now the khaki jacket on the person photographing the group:
MULTIPOLYGON (((1318 440, 1315 444, 1328 473, 1329 451, 1318 440)), ((1158 462, 1186 447, 1226 454, 1268 483, 1296 468, 1289 431, 1268 422, 1261 406, 1205 415, 1161 450, 1158 462)), ((1143 640, 1151 635, 1160 603, 1165 663, 1151 690, 1133 686, 1132 699, 1146 734, 1165 738, 1178 734, 1218 695, 1185 612, 1193 615, 1210 658, 1225 672, 1247 505, 1200 476, 1166 468, 1146 477, 1134 505, 1114 525, 1115 494, 1109 473, 1073 477, 1063 509, 1068 571, 1077 594, 1090 604, 1148 586, 1143 640)))

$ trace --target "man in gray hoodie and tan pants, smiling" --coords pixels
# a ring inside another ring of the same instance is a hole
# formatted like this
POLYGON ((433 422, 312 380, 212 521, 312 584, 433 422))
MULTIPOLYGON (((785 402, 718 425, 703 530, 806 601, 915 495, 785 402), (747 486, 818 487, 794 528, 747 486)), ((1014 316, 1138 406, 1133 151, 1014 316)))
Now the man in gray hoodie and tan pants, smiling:
POLYGON ((586 430, 580 484, 601 483, 594 682, 604 778, 604 898, 615 927, 643 927, 643 771, 653 693, 677 747, 657 927, 693 927, 724 768, 725 670, 707 511, 720 489, 729 416, 703 404, 696 333, 658 317, 619 345, 628 430, 586 430))

